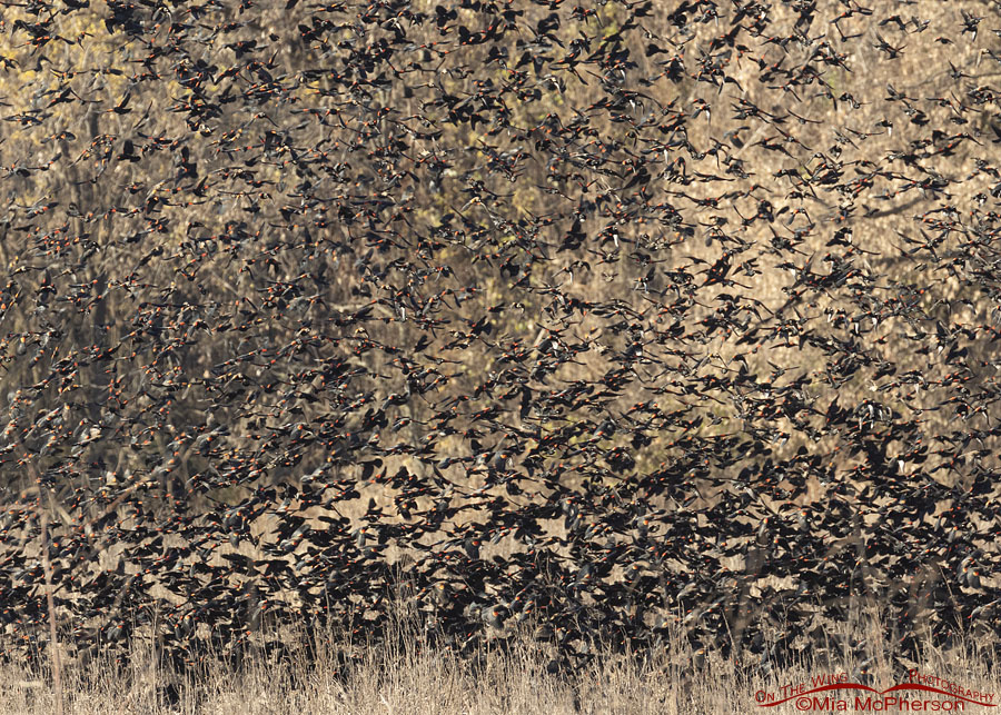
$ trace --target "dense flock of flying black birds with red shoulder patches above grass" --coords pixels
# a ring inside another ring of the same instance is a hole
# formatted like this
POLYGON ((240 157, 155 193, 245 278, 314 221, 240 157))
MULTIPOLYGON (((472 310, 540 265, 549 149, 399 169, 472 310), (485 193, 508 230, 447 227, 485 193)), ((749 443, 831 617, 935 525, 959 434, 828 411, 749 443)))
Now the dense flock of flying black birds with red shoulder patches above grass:
POLYGON ((997 637, 1001 6, 8 6, 4 657, 997 637))

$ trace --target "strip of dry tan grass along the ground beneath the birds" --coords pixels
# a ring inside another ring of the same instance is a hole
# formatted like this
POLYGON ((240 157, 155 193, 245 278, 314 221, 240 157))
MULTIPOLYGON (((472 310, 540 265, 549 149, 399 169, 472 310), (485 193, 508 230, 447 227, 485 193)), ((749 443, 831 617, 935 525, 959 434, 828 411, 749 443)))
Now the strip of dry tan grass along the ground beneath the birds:
MULTIPOLYGON (((554 653, 527 632, 458 657, 428 647, 414 624, 398 624, 389 645, 289 638, 291 655, 281 661, 261 655, 234 667, 207 659, 186 675, 137 643, 127 662, 99 657, 86 669, 69 668, 67 713, 749 713, 759 709, 759 691, 777 693, 783 685, 838 673, 882 689, 904 681, 910 667, 971 689, 1001 692, 1001 674, 993 667, 997 644, 969 637, 948 649, 925 647, 914 663, 891 662, 879 619, 861 614, 831 625, 832 643, 842 643, 841 649, 803 653, 800 662, 771 672, 743 669, 712 653, 703 659, 674 639, 646 655, 599 653, 567 673, 554 667, 554 653)), ((0 715, 56 712, 56 692, 46 678, 0 668, 0 715)), ((763 712, 796 711, 789 703, 763 712)))

